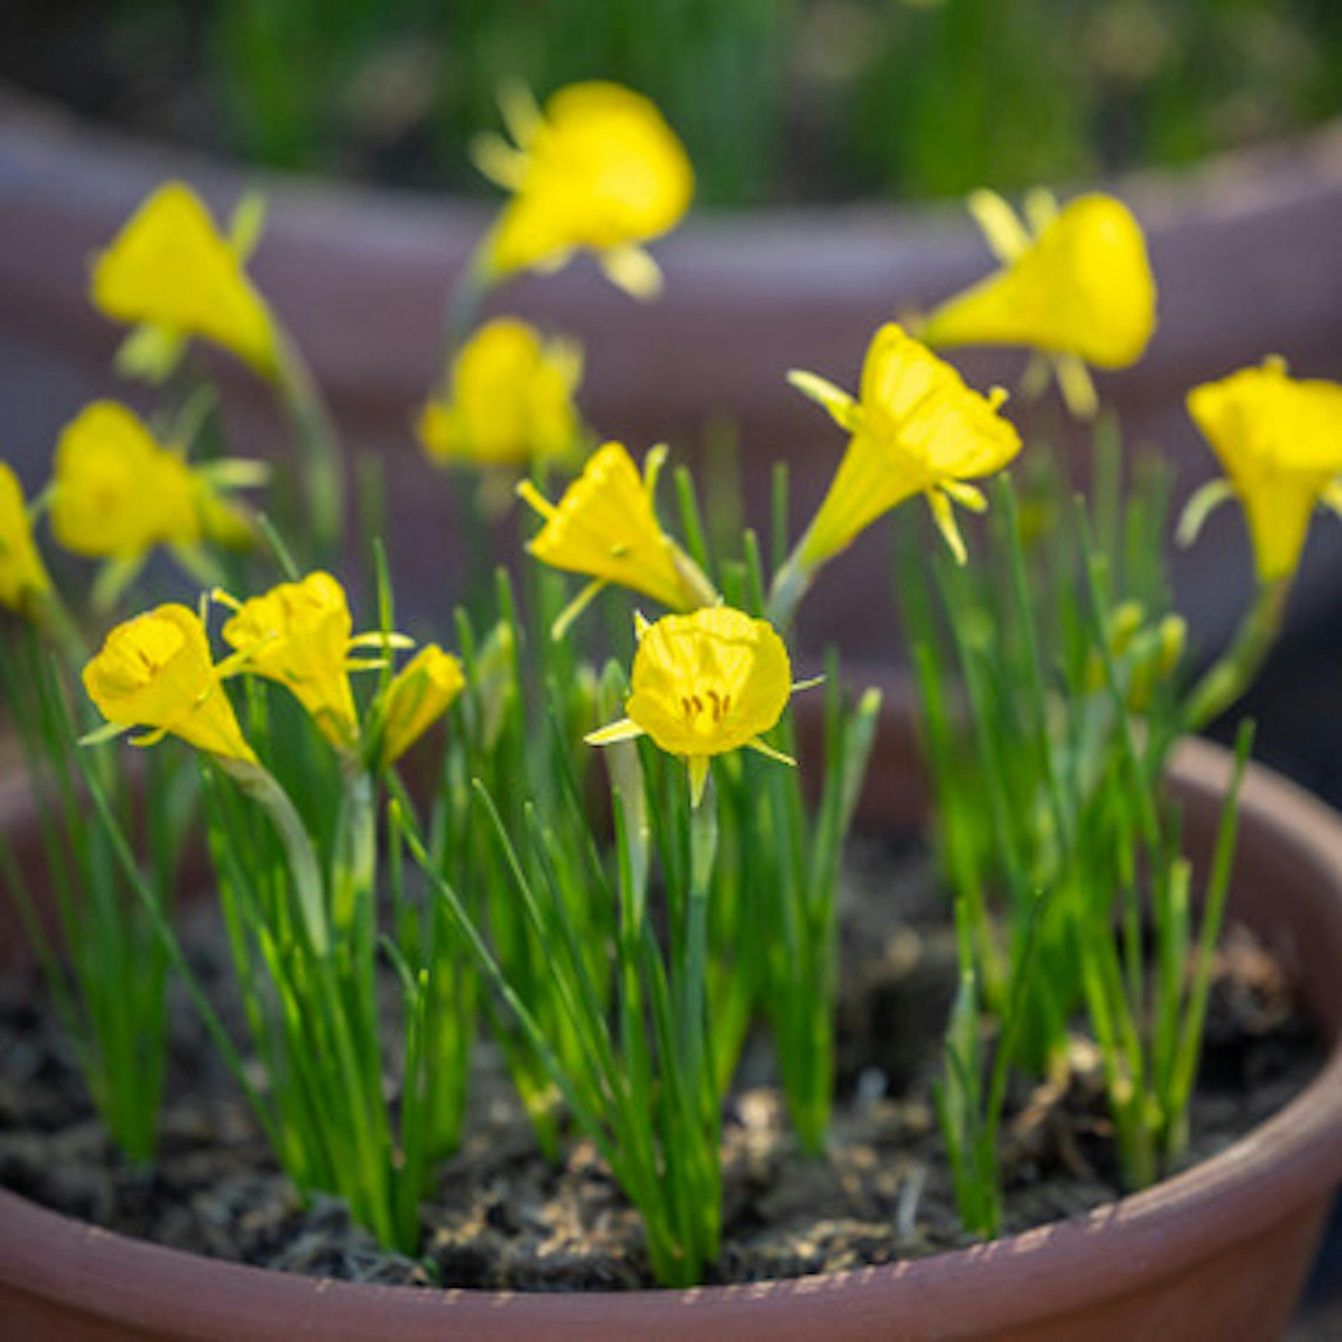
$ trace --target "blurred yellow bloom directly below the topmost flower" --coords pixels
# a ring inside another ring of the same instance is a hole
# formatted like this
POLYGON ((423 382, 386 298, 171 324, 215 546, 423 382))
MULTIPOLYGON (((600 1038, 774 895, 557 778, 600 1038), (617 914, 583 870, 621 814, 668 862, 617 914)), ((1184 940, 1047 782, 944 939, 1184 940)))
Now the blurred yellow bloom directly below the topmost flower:
POLYGON ((573 393, 582 354, 542 341, 527 322, 486 322, 452 362, 451 400, 431 400, 417 431, 440 463, 525 467, 572 456, 578 444, 573 393))

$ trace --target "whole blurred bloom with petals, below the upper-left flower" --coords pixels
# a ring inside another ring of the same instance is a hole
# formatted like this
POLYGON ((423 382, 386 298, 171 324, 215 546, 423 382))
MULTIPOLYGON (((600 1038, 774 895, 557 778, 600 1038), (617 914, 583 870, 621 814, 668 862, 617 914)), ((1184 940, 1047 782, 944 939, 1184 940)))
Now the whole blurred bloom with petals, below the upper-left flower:
POLYGON ((204 539, 250 537, 244 513, 217 487, 256 484, 258 462, 192 467, 161 446, 144 421, 117 401, 94 401, 60 433, 51 491, 51 529, 67 550, 107 560, 97 604, 109 605, 150 550, 172 546, 192 574, 212 580, 204 539))

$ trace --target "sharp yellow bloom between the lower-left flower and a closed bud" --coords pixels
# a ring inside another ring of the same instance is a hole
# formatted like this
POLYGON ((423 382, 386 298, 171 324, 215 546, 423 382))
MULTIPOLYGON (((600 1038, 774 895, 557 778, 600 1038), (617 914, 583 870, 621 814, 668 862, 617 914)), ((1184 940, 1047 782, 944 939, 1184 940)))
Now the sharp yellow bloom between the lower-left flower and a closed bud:
POLYGON ((349 600, 329 573, 280 582, 248 601, 217 589, 212 597, 234 612, 221 632, 239 655, 239 670, 285 686, 333 746, 352 750, 358 741, 358 714, 349 672, 382 663, 352 660, 349 654, 366 647, 408 647, 411 640, 399 633, 352 637, 349 600))

